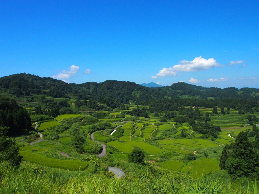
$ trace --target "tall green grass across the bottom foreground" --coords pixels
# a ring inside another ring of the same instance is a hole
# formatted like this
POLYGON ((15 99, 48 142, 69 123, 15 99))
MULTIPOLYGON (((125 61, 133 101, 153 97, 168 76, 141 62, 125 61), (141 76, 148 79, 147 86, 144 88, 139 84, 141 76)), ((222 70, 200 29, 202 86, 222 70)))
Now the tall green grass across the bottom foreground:
POLYGON ((155 176, 148 169, 142 177, 107 178, 104 174, 64 171, 23 163, 20 168, 0 163, 0 193, 258 193, 257 182, 234 188, 220 179, 179 181, 166 174, 155 176))

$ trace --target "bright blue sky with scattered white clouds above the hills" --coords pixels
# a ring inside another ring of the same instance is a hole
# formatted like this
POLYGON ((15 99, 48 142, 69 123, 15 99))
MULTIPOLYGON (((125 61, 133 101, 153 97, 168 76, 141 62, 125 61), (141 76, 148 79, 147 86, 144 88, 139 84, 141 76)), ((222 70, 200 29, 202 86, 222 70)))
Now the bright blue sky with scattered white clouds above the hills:
POLYGON ((259 88, 259 1, 0 1, 0 77, 259 88))

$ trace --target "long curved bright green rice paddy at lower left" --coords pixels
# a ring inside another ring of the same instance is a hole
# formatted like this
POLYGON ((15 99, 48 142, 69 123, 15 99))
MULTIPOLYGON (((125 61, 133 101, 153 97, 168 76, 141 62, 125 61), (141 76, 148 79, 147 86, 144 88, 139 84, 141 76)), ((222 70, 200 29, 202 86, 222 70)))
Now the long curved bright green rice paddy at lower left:
POLYGON ((26 151, 20 151, 19 153, 21 156, 23 156, 23 159, 26 161, 53 168, 61 168, 65 170, 85 170, 88 167, 88 163, 84 161, 46 158, 40 154, 26 151))

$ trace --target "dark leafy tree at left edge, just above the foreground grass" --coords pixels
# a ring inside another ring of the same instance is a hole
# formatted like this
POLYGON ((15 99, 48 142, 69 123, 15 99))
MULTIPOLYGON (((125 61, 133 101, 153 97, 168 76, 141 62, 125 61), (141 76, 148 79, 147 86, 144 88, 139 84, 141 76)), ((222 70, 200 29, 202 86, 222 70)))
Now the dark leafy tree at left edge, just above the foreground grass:
POLYGON ((9 127, 0 127, 0 162, 8 161, 13 166, 19 166, 21 156, 19 147, 15 145, 15 140, 7 137, 9 127))

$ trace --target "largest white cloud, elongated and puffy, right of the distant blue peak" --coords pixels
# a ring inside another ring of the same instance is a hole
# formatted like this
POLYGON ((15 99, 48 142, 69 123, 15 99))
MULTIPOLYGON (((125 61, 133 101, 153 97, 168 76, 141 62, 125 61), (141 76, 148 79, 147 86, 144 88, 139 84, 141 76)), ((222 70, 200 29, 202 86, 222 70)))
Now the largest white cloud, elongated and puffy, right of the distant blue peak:
POLYGON ((221 66, 219 63, 216 62, 214 58, 204 59, 202 56, 195 57, 192 61, 180 61, 180 64, 174 65, 170 68, 163 68, 159 71, 155 76, 152 76, 153 79, 160 78, 160 77, 170 77, 175 76, 177 72, 195 72, 195 71, 202 71, 207 70, 214 67, 221 66))

